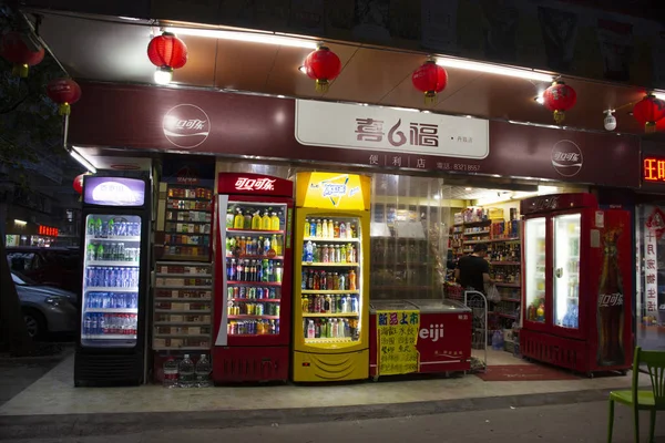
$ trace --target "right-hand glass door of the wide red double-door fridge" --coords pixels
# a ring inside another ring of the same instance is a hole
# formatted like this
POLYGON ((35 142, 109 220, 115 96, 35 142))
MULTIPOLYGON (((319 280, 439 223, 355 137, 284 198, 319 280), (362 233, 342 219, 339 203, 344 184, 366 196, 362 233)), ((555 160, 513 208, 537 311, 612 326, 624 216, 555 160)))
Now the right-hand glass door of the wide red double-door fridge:
POLYGON ((554 324, 577 329, 580 301, 581 214, 554 217, 554 324))

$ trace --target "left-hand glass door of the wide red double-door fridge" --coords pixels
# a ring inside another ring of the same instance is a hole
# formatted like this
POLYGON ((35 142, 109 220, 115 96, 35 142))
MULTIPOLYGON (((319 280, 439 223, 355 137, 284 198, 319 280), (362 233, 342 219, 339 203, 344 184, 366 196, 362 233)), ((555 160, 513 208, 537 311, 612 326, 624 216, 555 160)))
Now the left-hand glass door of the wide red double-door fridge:
POLYGON ((524 223, 524 293, 526 320, 545 322, 545 217, 530 218, 524 223))

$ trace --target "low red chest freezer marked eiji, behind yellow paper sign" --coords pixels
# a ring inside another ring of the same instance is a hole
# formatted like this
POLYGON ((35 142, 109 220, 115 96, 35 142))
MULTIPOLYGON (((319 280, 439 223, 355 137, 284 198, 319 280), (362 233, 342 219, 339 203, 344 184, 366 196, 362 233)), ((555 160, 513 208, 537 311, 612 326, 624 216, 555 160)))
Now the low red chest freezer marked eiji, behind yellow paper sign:
POLYGON ((377 312, 419 311, 416 349, 418 373, 444 373, 471 369, 471 309, 456 300, 382 300, 370 303, 369 375, 381 375, 378 367, 377 312))

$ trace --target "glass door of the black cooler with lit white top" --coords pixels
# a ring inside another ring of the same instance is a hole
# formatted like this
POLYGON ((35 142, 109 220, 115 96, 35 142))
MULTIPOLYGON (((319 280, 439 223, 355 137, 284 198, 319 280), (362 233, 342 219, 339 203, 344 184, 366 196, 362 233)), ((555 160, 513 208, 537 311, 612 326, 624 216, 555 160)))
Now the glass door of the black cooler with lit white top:
POLYGON ((85 219, 81 346, 136 346, 141 217, 91 214, 85 219))

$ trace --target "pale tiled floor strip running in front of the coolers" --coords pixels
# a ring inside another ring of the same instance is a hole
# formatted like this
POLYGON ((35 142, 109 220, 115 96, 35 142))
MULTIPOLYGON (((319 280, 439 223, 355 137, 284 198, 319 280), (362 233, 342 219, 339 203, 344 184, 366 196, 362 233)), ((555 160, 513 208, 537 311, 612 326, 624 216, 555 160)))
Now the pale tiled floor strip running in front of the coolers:
MULTIPOLYGON (((489 364, 524 364, 502 351, 488 351, 489 364)), ((630 377, 567 381, 484 382, 474 375, 419 380, 381 379, 337 385, 269 385, 208 389, 73 388, 73 357, 0 406, 0 415, 84 414, 289 409, 504 396, 630 387, 630 377)), ((646 383, 646 379, 645 383, 646 383)))

